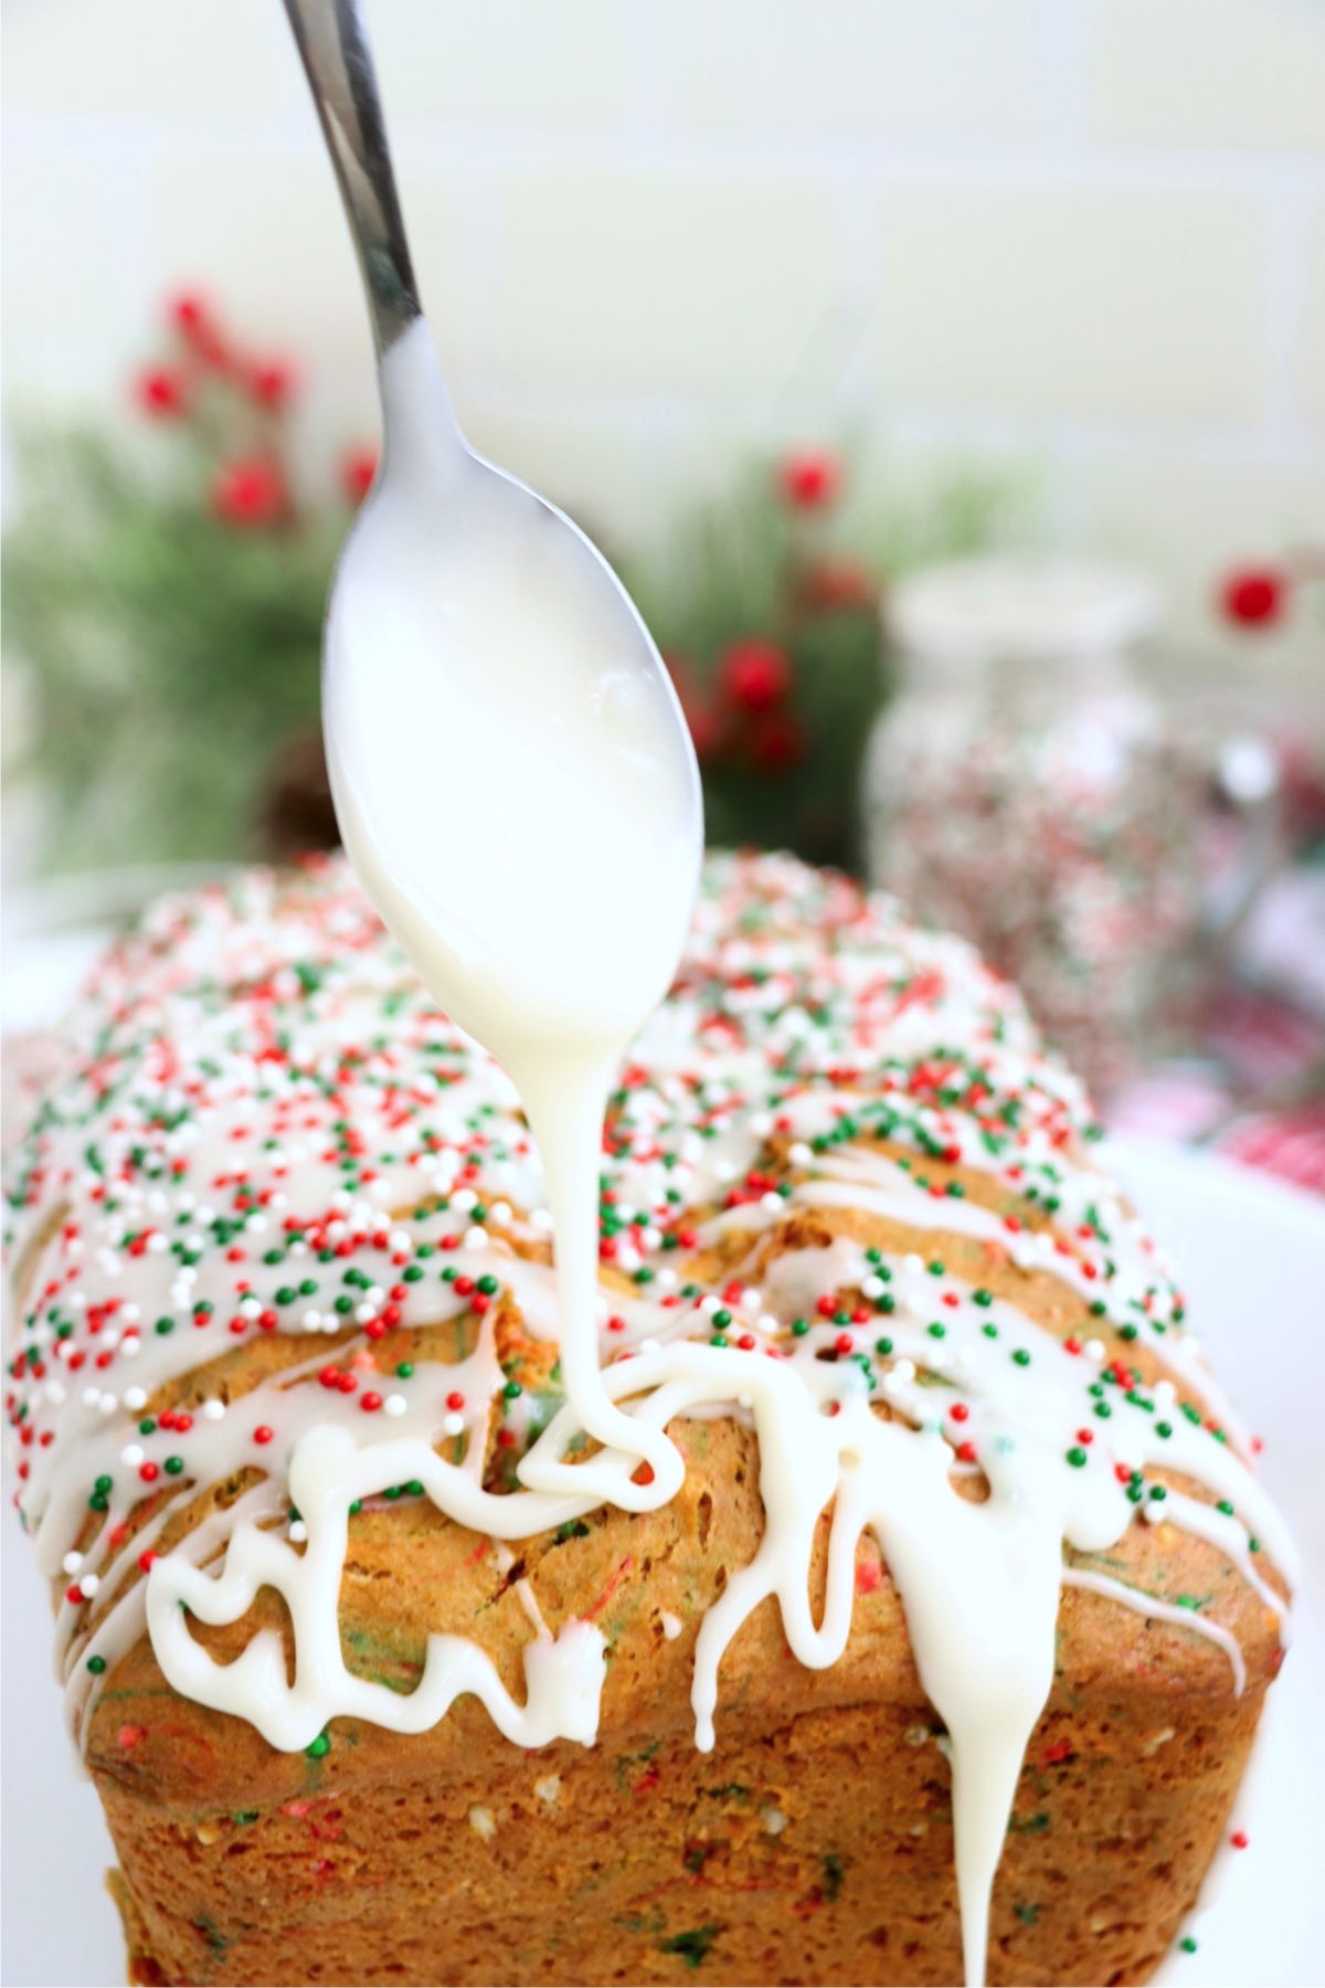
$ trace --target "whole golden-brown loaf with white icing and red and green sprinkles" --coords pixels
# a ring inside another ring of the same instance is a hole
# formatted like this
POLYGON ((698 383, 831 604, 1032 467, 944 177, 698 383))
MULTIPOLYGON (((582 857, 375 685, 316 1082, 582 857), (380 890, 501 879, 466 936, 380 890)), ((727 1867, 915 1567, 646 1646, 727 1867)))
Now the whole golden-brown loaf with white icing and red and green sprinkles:
POLYGON ((161 901, 72 1016, 8 1417, 131 1978, 1146 1980, 1291 1565, 1081 1087, 785 857, 709 861, 632 1056, 600 1344, 665 1501, 562 1404, 511 1083, 340 859, 161 901))

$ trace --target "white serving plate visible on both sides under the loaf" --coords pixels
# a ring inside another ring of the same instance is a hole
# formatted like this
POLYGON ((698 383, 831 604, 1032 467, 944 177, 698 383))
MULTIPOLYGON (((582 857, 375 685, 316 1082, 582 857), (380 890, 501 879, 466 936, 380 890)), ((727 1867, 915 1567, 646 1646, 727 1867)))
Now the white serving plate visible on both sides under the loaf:
MULTIPOLYGON (((1246 1419, 1303 1551, 1293 1652, 1261 1728, 1238 1821, 1250 1847, 1222 1861, 1196 1914, 1194 1954, 1166 1988, 1317 1988, 1325 1978, 1325 1205, 1228 1161, 1118 1141, 1110 1163, 1174 1256, 1192 1318, 1246 1419)), ((4 1523, 0 1692, 4 1811, 0 1980, 101 1988, 123 1980, 113 1861, 91 1785, 75 1771, 50 1670, 48 1592, 4 1523)))

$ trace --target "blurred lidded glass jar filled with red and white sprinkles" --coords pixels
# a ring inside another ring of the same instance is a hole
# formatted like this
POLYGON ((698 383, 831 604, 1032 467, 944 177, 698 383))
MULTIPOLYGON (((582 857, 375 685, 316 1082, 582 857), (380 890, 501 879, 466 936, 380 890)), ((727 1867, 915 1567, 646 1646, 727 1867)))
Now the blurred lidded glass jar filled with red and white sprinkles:
POLYGON ((1204 771, 1134 670, 1150 584, 932 567, 888 608, 900 692, 864 761, 874 883, 1021 984, 1097 1089, 1150 1048, 1200 924, 1204 771))

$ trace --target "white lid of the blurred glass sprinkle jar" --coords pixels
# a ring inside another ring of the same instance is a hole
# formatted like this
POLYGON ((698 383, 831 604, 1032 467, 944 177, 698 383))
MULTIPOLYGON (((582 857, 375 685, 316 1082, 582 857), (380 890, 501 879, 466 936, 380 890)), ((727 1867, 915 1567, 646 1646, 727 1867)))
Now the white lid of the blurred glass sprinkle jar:
POLYGON ((957 559, 926 567, 892 594, 888 626, 944 662, 1049 662, 1103 654, 1150 634, 1160 602, 1126 567, 1075 559, 957 559))

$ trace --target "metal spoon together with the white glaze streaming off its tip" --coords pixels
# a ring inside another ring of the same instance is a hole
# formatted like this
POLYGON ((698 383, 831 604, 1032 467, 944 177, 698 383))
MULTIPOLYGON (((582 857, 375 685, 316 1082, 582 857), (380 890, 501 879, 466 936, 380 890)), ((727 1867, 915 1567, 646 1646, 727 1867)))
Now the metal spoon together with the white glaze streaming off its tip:
MULTIPOLYGON (((566 1392, 590 1435, 652 1467, 640 1503, 654 1505, 681 1463, 602 1388, 594 1207, 614 1072, 689 922, 695 755, 608 563, 459 431, 358 6, 288 0, 288 12, 360 250, 385 437, 326 618, 336 815, 429 992, 520 1089, 548 1177, 566 1392)), ((558 1491, 570 1471, 544 1463, 524 1481, 558 1491)))

